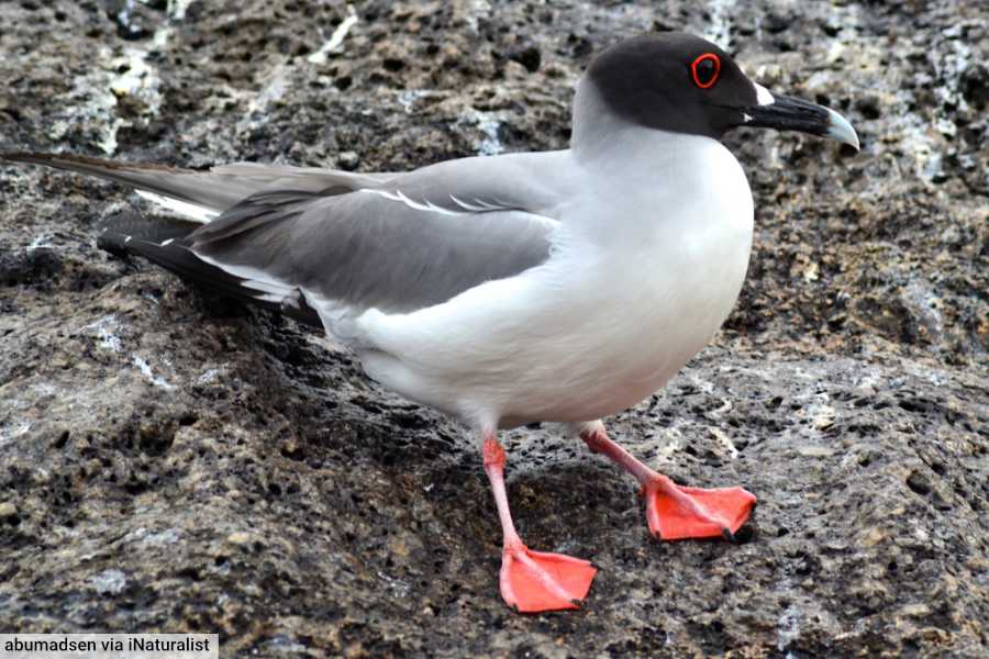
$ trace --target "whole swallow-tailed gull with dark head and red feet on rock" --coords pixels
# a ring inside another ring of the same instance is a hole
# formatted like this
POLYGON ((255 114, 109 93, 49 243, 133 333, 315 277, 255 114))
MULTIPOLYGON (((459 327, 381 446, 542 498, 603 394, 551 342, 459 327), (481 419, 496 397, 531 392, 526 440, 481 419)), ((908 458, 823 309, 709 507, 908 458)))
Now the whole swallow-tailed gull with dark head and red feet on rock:
POLYGON ((755 496, 677 485, 599 420, 666 384, 738 297, 753 199, 719 142, 725 132, 801 131, 858 147, 833 110, 770 93, 721 48, 681 33, 601 53, 579 80, 573 122, 568 149, 401 174, 4 157, 108 178, 182 210, 199 224, 103 238, 319 326, 368 376, 470 427, 503 530, 501 594, 535 612, 576 607, 597 568, 522 543, 498 429, 566 424, 638 480, 657 538, 731 539, 755 496))

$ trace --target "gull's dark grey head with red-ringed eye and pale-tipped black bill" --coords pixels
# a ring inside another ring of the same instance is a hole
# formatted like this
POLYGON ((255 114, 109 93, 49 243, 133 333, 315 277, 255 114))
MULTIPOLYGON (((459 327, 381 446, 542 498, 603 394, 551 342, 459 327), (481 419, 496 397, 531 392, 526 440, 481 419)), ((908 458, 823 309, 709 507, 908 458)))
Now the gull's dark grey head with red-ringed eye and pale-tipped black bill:
POLYGON ((749 80, 709 41, 667 32, 646 34, 604 51, 587 80, 616 115, 634 124, 715 139, 737 126, 801 131, 858 148, 838 113, 774 96, 749 80))

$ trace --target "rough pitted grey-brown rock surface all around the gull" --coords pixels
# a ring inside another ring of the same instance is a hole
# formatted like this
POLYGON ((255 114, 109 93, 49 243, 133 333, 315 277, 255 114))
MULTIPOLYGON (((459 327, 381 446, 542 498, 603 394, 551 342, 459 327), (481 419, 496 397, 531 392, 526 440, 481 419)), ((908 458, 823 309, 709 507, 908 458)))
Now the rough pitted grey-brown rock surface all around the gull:
POLYGON ((97 249, 133 196, 0 167, 0 628, 219 632, 266 657, 989 655, 985 3, 0 13, 0 148, 367 170, 556 148, 591 54, 664 29, 863 138, 730 138, 757 206, 742 300, 611 423, 681 482, 755 492, 745 541, 656 543, 630 479, 553 428, 508 433, 523 536, 602 568, 582 611, 527 617, 497 594, 475 438, 291 322, 97 249))

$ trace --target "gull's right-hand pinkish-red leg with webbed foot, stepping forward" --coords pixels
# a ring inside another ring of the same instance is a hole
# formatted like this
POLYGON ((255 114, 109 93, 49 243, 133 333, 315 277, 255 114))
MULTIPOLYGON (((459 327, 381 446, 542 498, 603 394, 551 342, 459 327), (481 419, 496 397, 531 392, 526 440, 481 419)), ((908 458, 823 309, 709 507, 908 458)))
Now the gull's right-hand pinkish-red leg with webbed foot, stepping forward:
POLYGON ((592 451, 604 454, 638 480, 646 496, 649 530, 660 540, 718 536, 732 540, 748 520, 756 499, 742 488, 702 490, 677 485, 612 442, 600 425, 580 437, 592 451))

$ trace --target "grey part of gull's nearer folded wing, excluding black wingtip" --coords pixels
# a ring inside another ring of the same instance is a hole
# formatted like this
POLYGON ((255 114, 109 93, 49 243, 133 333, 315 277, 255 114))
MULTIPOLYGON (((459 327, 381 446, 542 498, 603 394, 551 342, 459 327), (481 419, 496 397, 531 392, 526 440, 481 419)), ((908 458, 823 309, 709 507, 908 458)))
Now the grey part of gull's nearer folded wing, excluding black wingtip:
POLYGON ((414 311, 548 258, 557 222, 525 208, 537 203, 469 187, 430 188, 429 194, 388 183, 333 197, 262 192, 185 243, 242 278, 258 300, 301 293, 310 304, 349 311, 414 311))

